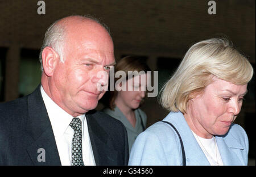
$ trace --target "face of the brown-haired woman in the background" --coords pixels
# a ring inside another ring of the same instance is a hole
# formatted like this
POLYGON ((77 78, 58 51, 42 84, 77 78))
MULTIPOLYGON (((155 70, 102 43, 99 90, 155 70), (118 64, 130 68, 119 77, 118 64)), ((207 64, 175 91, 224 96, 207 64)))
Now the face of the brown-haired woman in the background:
POLYGON ((126 81, 125 86, 121 86, 123 89, 118 91, 117 99, 121 100, 123 106, 130 109, 137 109, 142 102, 142 99, 146 95, 146 79, 147 75, 137 75, 126 81))

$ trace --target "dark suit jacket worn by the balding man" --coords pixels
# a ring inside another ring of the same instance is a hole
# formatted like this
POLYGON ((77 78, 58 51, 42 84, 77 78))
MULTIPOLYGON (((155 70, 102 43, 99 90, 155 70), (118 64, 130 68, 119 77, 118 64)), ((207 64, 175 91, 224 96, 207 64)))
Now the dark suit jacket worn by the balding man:
MULTIPOLYGON (((86 113, 86 120, 96 165, 127 165, 123 124, 95 110, 86 113)), ((61 165, 40 85, 30 95, 0 104, 0 165, 61 165), (40 148, 45 162, 38 161, 40 148)))

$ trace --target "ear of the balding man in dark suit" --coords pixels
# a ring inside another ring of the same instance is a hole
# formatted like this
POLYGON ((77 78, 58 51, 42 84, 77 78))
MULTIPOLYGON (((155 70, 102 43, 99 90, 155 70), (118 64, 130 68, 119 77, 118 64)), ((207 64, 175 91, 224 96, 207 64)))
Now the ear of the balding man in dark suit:
POLYGON ((51 47, 46 47, 42 52, 42 62, 44 73, 48 77, 52 76, 53 70, 55 68, 56 63, 59 61, 59 54, 55 52, 55 50, 51 47))

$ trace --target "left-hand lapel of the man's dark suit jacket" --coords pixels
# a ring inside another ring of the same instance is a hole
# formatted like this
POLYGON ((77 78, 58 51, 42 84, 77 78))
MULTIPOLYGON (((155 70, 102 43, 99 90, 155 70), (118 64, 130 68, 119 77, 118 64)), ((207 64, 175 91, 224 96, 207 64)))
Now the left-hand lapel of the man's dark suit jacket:
POLYGON ((31 136, 31 145, 27 147, 27 151, 35 165, 61 165, 40 85, 28 96, 27 132, 31 136), (40 150, 45 151, 45 162, 38 161, 38 157, 44 155, 40 150))

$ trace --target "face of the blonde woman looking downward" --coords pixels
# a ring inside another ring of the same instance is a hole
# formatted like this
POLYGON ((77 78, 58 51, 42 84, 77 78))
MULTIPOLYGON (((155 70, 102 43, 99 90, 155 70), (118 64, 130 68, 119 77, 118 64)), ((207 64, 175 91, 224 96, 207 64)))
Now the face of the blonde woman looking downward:
POLYGON ((246 92, 247 84, 234 85, 213 77, 202 94, 189 100, 185 116, 189 127, 204 138, 225 134, 240 112, 246 92))

